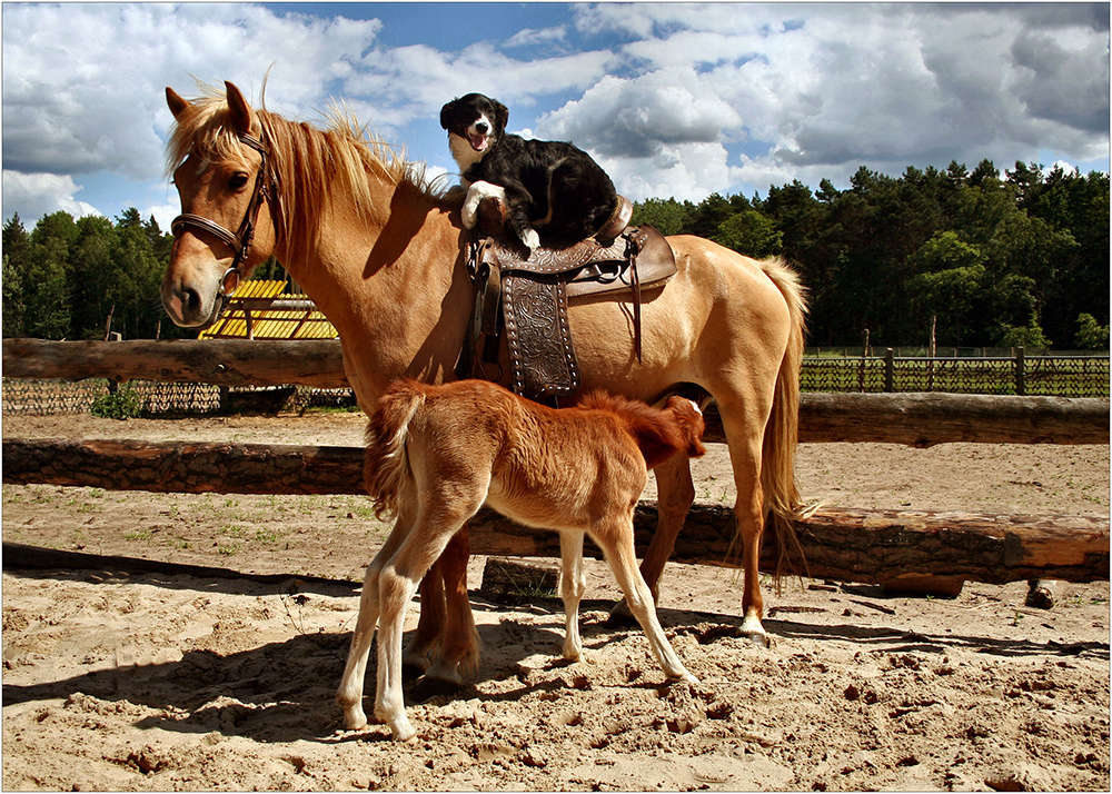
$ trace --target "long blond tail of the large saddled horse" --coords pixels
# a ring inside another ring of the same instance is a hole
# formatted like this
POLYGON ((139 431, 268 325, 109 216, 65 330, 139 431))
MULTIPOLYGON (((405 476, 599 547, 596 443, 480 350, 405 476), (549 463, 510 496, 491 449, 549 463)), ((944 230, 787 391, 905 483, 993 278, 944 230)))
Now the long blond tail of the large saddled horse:
POLYGON ((806 335, 807 291, 800 282, 798 274, 783 261, 768 259, 762 261, 761 267, 784 296, 791 315, 787 349, 776 375, 776 389, 772 414, 765 426, 761 464, 765 513, 770 518, 770 528, 776 534, 780 549, 778 573, 790 547, 803 558, 793 522, 810 517, 817 508, 804 504, 795 482, 795 451, 800 440, 800 368, 803 365, 806 335))

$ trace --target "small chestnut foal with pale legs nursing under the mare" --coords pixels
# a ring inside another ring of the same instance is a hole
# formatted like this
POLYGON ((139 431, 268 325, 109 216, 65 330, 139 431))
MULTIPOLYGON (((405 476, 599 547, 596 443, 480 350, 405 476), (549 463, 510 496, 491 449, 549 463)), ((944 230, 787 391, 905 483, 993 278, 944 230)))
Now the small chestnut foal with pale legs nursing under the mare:
POLYGON ((583 536, 603 549, 626 604, 671 681, 696 678, 664 636, 637 569, 633 513, 648 468, 703 448, 703 414, 683 397, 663 410, 595 391, 557 410, 486 380, 396 381, 367 428, 365 480, 378 517, 397 516, 367 566, 359 618, 336 699, 349 731, 366 726, 363 685, 378 627, 375 715, 394 738, 415 732, 401 697, 401 624, 417 580, 448 540, 488 504, 519 524, 560 534, 564 658, 578 661, 586 587, 583 536))

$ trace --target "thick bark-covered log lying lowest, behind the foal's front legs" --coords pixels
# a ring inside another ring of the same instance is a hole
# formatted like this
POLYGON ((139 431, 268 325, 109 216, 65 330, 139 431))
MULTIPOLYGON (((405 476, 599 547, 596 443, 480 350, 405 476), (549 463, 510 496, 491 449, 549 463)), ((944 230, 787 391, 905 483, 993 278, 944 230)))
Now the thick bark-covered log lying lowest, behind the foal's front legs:
MULTIPOLYGON (((656 505, 637 506, 638 556, 656 530, 656 505)), ((483 509, 471 522, 471 550, 512 557, 558 557, 555 533, 519 527, 483 509)), ((766 536, 761 570, 878 584, 905 589, 911 577, 1006 584, 1031 578, 1104 582, 1109 578, 1109 520, 1094 516, 820 509, 796 524, 803 560, 778 560, 777 538, 766 536)), ((737 567, 731 558, 734 515, 724 505, 693 505, 676 538, 677 563, 737 567)), ((600 556, 592 544, 585 554, 600 556)))

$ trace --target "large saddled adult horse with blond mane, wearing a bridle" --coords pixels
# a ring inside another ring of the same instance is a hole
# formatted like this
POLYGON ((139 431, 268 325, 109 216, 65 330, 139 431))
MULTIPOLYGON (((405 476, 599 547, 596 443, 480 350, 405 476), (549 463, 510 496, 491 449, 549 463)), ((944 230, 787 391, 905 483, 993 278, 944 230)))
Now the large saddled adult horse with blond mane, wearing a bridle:
MULTIPOLYGON (((216 321, 238 281, 272 255, 339 331, 347 378, 368 415, 398 377, 455 378, 473 305, 461 193, 434 190, 421 167, 368 141, 342 113, 327 129, 289 121, 252 108, 231 83, 192 101, 169 88, 166 97, 177 122, 168 170, 182 209, 161 287, 175 322, 201 329, 216 321)), ((694 385, 717 404, 737 488, 742 631, 766 643, 757 572, 766 515, 776 530, 791 532, 802 509, 794 460, 804 290, 778 260, 756 261, 698 237, 668 242, 678 271, 643 290, 642 361, 628 295, 569 301, 580 388, 663 404, 694 385)), ((503 343, 508 374, 507 361, 503 343)), ((695 498, 686 457, 658 466, 656 477, 658 526, 641 566, 654 597, 695 498)), ((469 647, 469 637, 454 632, 470 624, 468 548, 465 528, 441 556, 439 575, 426 576, 406 651, 407 662, 428 667, 425 655, 443 631, 428 677, 456 684, 469 647)))

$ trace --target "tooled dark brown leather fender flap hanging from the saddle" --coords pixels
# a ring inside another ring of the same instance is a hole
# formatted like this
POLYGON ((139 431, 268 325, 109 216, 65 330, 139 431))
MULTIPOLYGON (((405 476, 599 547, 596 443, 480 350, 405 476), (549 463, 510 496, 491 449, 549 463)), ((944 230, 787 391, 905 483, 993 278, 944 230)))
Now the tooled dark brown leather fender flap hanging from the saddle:
POLYGON ((504 274, 503 321, 514 391, 529 399, 574 394, 579 388, 567 289, 552 276, 504 274))

